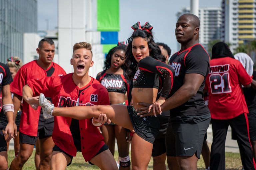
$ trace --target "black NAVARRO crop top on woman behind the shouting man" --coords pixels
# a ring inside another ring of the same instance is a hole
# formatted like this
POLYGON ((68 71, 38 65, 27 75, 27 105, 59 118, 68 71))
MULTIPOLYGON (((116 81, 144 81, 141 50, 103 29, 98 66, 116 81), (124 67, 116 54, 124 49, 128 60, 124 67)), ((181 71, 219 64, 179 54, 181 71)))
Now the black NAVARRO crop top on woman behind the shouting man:
POLYGON ((129 91, 129 83, 125 75, 107 74, 104 70, 96 79, 108 90, 108 92, 119 92, 125 94, 129 91))

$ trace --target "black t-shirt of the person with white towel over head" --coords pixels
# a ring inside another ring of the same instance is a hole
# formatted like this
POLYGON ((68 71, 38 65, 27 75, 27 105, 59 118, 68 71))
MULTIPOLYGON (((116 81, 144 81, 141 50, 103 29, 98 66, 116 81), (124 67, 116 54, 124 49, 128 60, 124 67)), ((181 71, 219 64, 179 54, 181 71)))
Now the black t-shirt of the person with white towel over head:
MULTIPOLYGON (((256 80, 256 72, 255 71, 253 71, 252 76, 253 76, 252 79, 256 80)), ((243 92, 244 92, 244 97, 245 97, 245 101, 246 101, 248 110, 251 111, 251 110, 256 109, 256 90, 253 89, 252 87, 250 87, 250 88, 244 87, 243 92)))

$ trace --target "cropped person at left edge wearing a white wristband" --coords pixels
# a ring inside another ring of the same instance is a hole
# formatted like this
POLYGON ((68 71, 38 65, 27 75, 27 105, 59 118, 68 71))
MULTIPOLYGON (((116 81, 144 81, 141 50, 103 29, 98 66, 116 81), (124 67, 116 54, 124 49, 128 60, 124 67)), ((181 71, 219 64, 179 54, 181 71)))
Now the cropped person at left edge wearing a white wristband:
POLYGON ((8 169, 7 162, 7 143, 11 140, 14 134, 14 116, 13 116, 13 104, 12 96, 10 91, 10 83, 12 82, 12 76, 7 65, 0 63, 0 91, 2 94, 2 109, 6 114, 7 125, 5 126, 5 131, 3 133, 3 125, 0 122, 0 169, 8 169), (5 136, 8 137, 5 139, 5 136))

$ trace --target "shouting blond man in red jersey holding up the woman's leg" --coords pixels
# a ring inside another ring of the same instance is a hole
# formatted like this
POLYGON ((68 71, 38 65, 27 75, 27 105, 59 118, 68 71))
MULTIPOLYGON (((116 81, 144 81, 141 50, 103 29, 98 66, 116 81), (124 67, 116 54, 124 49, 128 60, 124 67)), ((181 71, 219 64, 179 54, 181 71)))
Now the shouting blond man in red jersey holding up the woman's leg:
MULTIPOLYGON (((107 89, 88 75, 89 68, 93 66, 91 45, 86 42, 76 43, 70 63, 74 73, 28 81, 28 85, 23 87, 23 99, 33 104, 35 97, 31 97, 44 93, 52 98, 52 103, 57 107, 109 105, 107 89)), ((38 100, 35 101, 38 103, 38 100)), ((82 152, 85 161, 101 169, 118 169, 103 136, 92 124, 92 119, 54 118, 52 138, 55 146, 51 169, 65 169, 78 151, 82 152)))

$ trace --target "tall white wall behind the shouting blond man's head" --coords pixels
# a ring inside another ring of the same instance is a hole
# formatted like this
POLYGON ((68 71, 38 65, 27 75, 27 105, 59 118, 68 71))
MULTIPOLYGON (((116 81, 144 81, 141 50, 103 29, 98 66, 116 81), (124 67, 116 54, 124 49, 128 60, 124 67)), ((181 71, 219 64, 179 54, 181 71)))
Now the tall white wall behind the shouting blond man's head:
POLYGON ((59 0, 58 1, 58 64, 72 73, 70 65, 73 45, 88 42, 92 45, 94 66, 89 75, 96 78, 102 71, 104 54, 100 45, 100 32, 97 32, 97 1, 91 0, 59 0))

